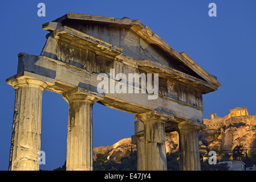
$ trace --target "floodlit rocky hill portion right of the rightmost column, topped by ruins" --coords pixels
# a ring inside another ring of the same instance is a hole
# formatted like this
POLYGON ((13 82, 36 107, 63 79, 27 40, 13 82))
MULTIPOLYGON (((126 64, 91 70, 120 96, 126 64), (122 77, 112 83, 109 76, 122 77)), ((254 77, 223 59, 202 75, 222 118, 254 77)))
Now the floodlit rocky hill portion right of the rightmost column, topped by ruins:
POLYGON ((241 145, 243 150, 256 151, 256 115, 249 115, 245 107, 231 109, 224 118, 210 115, 211 119, 204 119, 206 129, 200 133, 200 140, 208 150, 221 147, 222 152, 231 152, 241 145))

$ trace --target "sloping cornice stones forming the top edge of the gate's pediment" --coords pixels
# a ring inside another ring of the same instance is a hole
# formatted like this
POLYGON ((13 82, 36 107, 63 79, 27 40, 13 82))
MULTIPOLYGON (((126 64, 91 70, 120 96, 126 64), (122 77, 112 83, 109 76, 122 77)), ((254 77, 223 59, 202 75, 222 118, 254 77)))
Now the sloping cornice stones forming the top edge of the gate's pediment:
MULTIPOLYGON (((200 65, 198 65, 193 59, 191 59, 185 52, 178 53, 176 50, 172 49, 168 43, 164 42, 157 34, 153 33, 153 31, 145 26, 141 20, 132 20, 127 17, 124 18, 113 18, 107 16, 97 16, 97 15, 87 15, 87 14, 75 14, 75 13, 68 13, 64 16, 61 16, 58 19, 55 19, 52 22, 68 22, 68 21, 76 21, 76 20, 83 20, 86 22, 94 22, 94 23, 101 23, 101 24, 108 24, 109 26, 117 26, 117 27, 125 27, 131 28, 136 34, 141 36, 141 38, 147 40, 150 44, 155 44, 156 46, 160 47, 164 52, 168 53, 170 56, 174 57, 176 60, 180 61, 182 64, 189 67, 194 72, 197 73, 200 77, 202 77, 206 82, 213 85, 217 90, 219 86, 221 86, 220 82, 217 81, 217 77, 210 75, 208 72, 205 71, 200 65)), ((43 29, 48 31, 54 31, 58 27, 52 26, 51 22, 44 23, 43 29)))

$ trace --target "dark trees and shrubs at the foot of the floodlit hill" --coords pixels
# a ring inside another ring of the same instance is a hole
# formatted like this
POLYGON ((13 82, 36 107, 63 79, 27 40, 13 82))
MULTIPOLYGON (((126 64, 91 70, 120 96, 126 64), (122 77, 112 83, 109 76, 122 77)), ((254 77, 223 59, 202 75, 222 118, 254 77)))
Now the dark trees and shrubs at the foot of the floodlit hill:
MULTIPOLYGON (((94 171, 136 171, 137 170, 137 151, 130 152, 127 150, 125 156, 122 158, 116 158, 115 160, 107 160, 107 156, 104 154, 97 154, 94 161, 94 171)), ((217 151, 220 154, 220 151, 217 151)), ((180 162, 179 154, 177 152, 167 153, 167 169, 168 171, 179 171, 180 162)), ((256 154, 251 154, 249 151, 243 152, 241 147, 235 147, 233 155, 225 153, 221 161, 226 160, 242 160, 246 165, 245 167, 252 167, 256 164, 256 154)), ((202 160, 201 155, 201 170, 202 171, 227 171, 227 164, 209 164, 208 160, 205 162, 202 160)), ((66 171, 66 162, 62 167, 54 169, 54 171, 66 171)))

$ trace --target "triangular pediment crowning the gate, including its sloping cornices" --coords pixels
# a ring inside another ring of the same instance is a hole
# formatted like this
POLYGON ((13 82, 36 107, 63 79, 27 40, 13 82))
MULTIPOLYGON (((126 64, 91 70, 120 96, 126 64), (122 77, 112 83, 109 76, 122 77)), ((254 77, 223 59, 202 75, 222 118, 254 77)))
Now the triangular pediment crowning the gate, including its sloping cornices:
MULTIPOLYGON (((193 78, 196 80, 195 82, 199 80, 209 87, 205 93, 217 90, 221 86, 217 77, 206 72, 185 52, 178 53, 172 49, 140 20, 68 13, 52 22, 43 24, 43 29, 48 31, 60 32, 60 28, 63 27, 71 30, 67 32, 66 36, 70 36, 72 32, 80 32, 84 37, 95 39, 95 44, 110 45, 106 47, 115 47, 120 50, 122 55, 138 60, 137 64, 143 69, 147 69, 144 63, 148 64, 147 61, 150 61, 151 67, 160 65, 160 67, 173 72, 172 74, 176 72, 177 76, 193 78)), ((111 56, 120 55, 119 52, 112 51, 111 56)), ((159 70, 158 67, 155 71, 157 70, 159 70)), ((165 75, 168 75, 168 71, 165 72, 165 75)), ((189 80, 188 82, 193 81, 189 80)))

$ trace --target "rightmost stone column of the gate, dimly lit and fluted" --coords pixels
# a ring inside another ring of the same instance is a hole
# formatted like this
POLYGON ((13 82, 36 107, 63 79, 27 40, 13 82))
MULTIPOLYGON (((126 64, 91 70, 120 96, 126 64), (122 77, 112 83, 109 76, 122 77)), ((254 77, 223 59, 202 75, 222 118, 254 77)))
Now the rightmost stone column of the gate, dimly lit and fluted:
POLYGON ((198 132, 200 130, 201 127, 187 121, 178 123, 181 171, 201 170, 198 143, 198 132))

